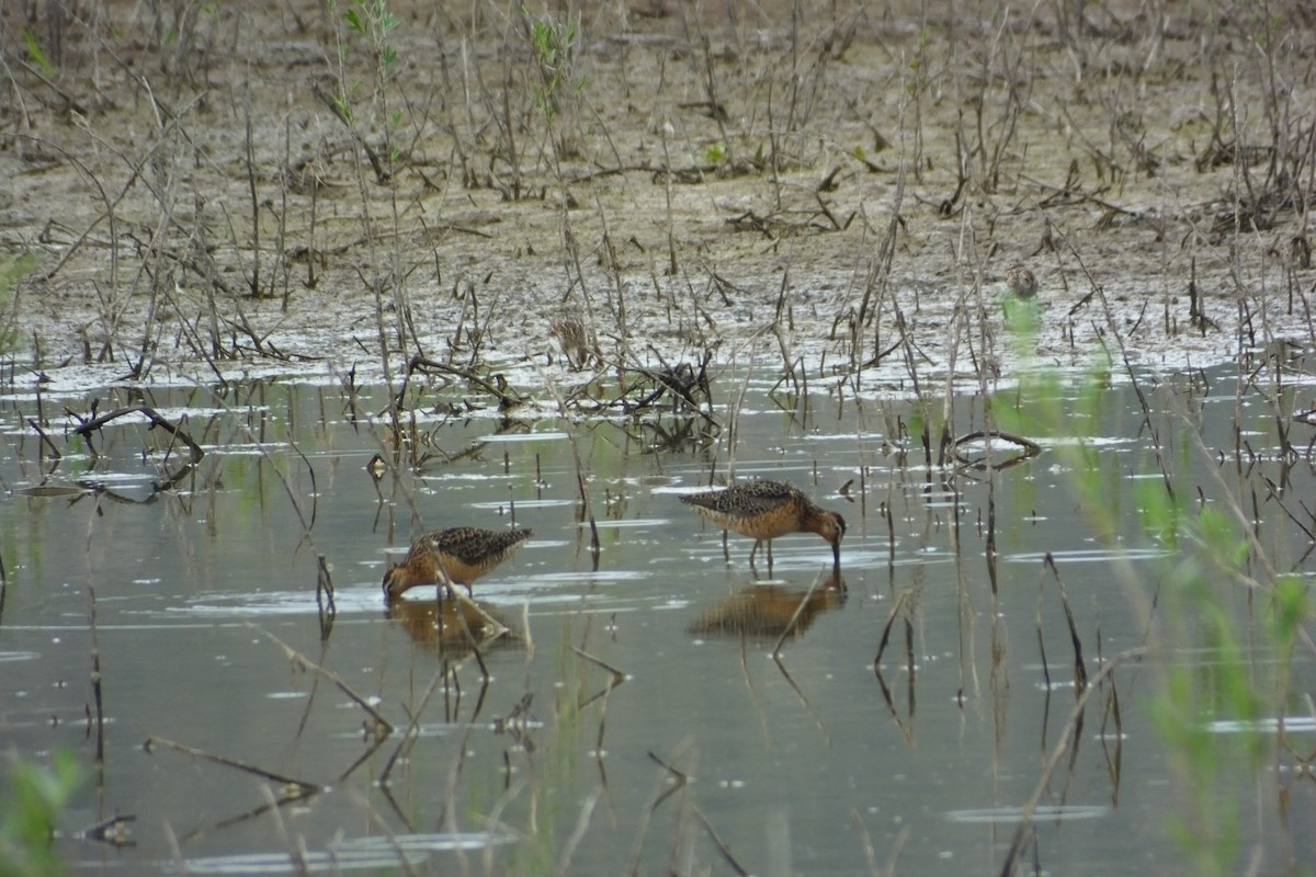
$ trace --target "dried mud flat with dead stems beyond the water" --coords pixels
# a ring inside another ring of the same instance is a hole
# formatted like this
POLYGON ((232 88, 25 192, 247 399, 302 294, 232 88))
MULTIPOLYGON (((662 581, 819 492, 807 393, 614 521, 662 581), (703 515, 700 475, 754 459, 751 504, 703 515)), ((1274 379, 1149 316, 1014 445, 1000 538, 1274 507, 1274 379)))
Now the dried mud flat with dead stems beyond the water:
POLYGON ((18 385, 873 389, 1313 342, 1303 3, 18 5, 18 385))

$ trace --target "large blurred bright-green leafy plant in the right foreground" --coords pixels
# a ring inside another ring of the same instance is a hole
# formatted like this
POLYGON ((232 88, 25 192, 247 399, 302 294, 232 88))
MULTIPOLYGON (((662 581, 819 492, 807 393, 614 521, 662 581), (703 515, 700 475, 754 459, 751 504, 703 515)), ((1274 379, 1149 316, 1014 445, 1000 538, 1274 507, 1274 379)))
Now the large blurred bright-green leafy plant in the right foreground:
MULTIPOLYGON (((1017 338, 1030 338, 1029 320, 1007 318, 1017 338)), ((1073 488, 1100 540, 1112 551, 1133 547, 1125 514, 1113 506, 1112 479, 1128 477, 1128 462, 1096 452, 1087 423, 1104 422, 1109 363, 1094 368, 1075 393, 1053 376, 1028 376, 994 398, 1005 429, 1054 437, 1055 454, 1073 472, 1073 488)), ((1129 377, 1138 380, 1137 375, 1129 377)), ((1141 396, 1140 396, 1141 397, 1141 396)), ((1155 410, 1144 401, 1145 410, 1155 410)), ((1195 429, 1184 418, 1188 430, 1195 429)), ((1154 429, 1148 425, 1149 431, 1154 429)), ((1153 435, 1153 442, 1159 439, 1153 435)), ((1124 584, 1146 604, 1152 642, 1163 655, 1161 684, 1149 703, 1183 805, 1166 814, 1167 834, 1192 861, 1194 873, 1236 873, 1245 823, 1234 797, 1240 776, 1254 776, 1275 757, 1270 724, 1283 721, 1294 696, 1288 668, 1311 621, 1307 588, 1294 575, 1271 569, 1248 515, 1221 483, 1209 501, 1177 479, 1191 472, 1191 442, 1178 456, 1161 447, 1148 456, 1136 489, 1141 536, 1167 550, 1158 563, 1116 563, 1124 584), (1199 498, 1202 501, 1199 501, 1199 498), (1241 606, 1248 606, 1241 610, 1241 606), (1255 623, 1254 623, 1255 622, 1255 623)), ((1204 447, 1204 446, 1203 446, 1204 447)))

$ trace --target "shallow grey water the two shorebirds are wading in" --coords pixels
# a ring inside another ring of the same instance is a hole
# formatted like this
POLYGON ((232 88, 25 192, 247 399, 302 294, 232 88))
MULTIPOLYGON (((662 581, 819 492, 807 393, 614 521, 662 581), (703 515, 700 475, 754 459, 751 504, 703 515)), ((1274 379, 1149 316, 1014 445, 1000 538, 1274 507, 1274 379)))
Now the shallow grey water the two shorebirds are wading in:
MULTIPOLYGON (((1165 468, 1212 504, 1255 494, 1261 544, 1280 571, 1302 569, 1304 535, 1258 484, 1271 479, 1296 508, 1312 469, 1236 464, 1237 400, 1228 375, 1213 379, 1213 393, 1191 401, 1183 387, 1146 389, 1153 410, 1191 412, 1155 417, 1165 468)), ((1076 391, 1061 393, 1066 422, 1096 454, 1105 505, 1091 509, 1065 452, 1074 435, 1037 437, 1040 456, 994 475, 957 472, 928 467, 901 435, 920 415, 912 401, 783 400, 770 387, 749 385, 736 473, 794 481, 846 517, 841 581, 813 535, 780 539, 771 575, 762 560, 747 565, 747 539, 733 535, 728 559, 720 531, 676 498, 707 484, 712 464, 724 472, 725 452, 659 448, 683 426, 674 418, 433 419, 420 427, 420 468, 376 481, 368 464, 390 448, 368 413, 382 392, 354 405, 337 387, 291 381, 46 397, 46 431, 66 451, 54 465, 25 425, 36 397, 7 397, 0 734, 37 763, 71 749, 87 765, 59 849, 80 872, 118 873, 295 873, 290 851, 301 849, 312 873, 401 861, 421 873, 728 873, 732 861, 758 874, 990 872, 1074 707, 1059 581, 1090 676, 1103 659, 1152 648, 1088 701, 1023 861, 1070 874, 1190 873, 1170 832, 1191 822, 1191 795, 1150 711, 1167 667, 1211 676, 1221 655, 1191 635, 1152 635, 1153 601, 1179 555, 1138 522, 1137 492, 1162 467, 1132 388, 1101 393, 1088 418, 1076 391), (157 490, 182 458, 143 458, 167 435, 117 421, 92 459, 66 444, 55 413, 86 413, 93 397, 103 413, 145 401, 184 418, 205 458, 157 490), (440 636, 428 589, 386 610, 386 563, 411 536, 513 518, 534 539, 474 589, 511 634, 478 652, 451 625, 440 636), (332 623, 317 609, 320 556, 332 623), (290 663, 280 643, 324 672, 290 663), (376 748, 345 688, 395 727, 376 748), (499 724, 526 694, 524 723, 499 724), (284 782, 180 747, 318 792, 271 809, 292 794, 284 782), (67 836, 116 814, 136 817, 128 844, 67 836)), ((1248 405, 1240 425, 1265 454, 1273 412, 1248 405)), ((980 401, 958 398, 955 412, 957 431, 980 427, 980 401)), ((1225 593, 1254 630, 1254 602, 1225 593)), ((1274 655, 1250 642, 1263 689, 1274 655)), ((1311 653, 1295 661, 1292 677, 1309 678, 1311 653)), ((1307 689, 1291 688, 1290 711, 1308 718, 1307 689)), ((1238 731, 1212 724, 1208 706, 1203 727, 1238 731)), ((1309 722, 1287 730, 1296 752, 1312 748, 1309 722)), ((1316 786, 1294 769, 1283 751, 1259 768, 1229 759, 1213 786, 1237 809, 1257 873, 1316 865, 1316 786)))

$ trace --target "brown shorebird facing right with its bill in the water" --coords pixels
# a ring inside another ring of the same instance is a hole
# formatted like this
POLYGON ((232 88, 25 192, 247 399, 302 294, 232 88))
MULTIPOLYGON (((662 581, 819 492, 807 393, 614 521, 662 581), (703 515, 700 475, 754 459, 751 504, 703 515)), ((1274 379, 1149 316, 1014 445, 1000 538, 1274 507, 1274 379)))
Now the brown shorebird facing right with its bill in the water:
POLYGON ((804 493, 780 481, 742 481, 725 490, 708 490, 680 497, 724 530, 734 530, 754 540, 749 552, 767 543, 767 568, 772 568, 772 539, 787 533, 816 533, 832 543, 833 565, 841 565, 841 536, 845 518, 813 505, 804 493))

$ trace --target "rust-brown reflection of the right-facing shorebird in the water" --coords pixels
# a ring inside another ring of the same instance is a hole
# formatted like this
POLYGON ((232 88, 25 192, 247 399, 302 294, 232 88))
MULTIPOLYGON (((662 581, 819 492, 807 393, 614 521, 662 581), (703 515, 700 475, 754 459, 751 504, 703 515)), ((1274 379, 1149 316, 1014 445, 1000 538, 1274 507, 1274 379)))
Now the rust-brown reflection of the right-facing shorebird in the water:
POLYGON ((845 580, 836 569, 813 588, 750 585, 717 602, 687 628, 696 636, 803 636, 822 613, 845 605, 845 580))

